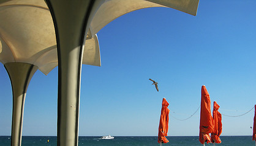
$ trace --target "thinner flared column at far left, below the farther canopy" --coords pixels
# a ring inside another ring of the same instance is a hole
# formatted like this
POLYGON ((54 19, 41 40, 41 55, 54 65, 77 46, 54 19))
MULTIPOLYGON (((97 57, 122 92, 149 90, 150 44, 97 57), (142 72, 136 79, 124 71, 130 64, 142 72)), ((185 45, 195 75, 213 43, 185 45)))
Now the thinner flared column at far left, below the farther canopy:
POLYGON ((9 74, 13 94, 11 145, 21 146, 26 91, 32 76, 38 68, 28 63, 6 63, 4 67, 9 74))

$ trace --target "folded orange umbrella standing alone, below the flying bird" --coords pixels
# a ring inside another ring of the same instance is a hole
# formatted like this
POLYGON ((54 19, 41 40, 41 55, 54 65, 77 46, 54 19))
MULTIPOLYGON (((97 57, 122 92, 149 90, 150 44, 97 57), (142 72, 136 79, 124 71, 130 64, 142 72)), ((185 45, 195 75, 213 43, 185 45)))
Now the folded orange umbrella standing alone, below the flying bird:
POLYGON ((170 110, 167 108, 169 103, 164 98, 162 101, 162 109, 161 109, 161 116, 158 128, 158 139, 157 142, 160 143, 167 143, 169 142, 168 139, 165 137, 167 136, 168 132, 168 122, 169 122, 169 113, 170 110))

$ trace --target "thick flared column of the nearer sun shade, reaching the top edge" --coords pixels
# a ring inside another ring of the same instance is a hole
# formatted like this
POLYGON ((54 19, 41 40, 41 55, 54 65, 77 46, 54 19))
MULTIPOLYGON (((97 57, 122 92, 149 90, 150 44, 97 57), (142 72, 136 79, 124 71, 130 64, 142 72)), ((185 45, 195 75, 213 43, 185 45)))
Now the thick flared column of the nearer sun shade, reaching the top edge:
POLYGON ((55 24, 58 49, 58 146, 78 145, 83 49, 101 0, 45 0, 55 24))

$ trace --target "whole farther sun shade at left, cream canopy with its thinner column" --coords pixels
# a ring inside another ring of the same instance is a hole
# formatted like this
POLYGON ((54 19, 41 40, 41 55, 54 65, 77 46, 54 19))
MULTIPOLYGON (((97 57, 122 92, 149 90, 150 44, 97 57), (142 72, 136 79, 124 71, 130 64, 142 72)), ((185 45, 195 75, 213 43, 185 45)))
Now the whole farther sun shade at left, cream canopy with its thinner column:
MULTIPOLYGON (((21 145, 26 90, 39 69, 47 75, 58 66, 55 28, 44 1, 0 1, 0 62, 13 92, 12 145, 21 145)), ((100 66, 97 35, 85 44, 83 64, 100 66)))

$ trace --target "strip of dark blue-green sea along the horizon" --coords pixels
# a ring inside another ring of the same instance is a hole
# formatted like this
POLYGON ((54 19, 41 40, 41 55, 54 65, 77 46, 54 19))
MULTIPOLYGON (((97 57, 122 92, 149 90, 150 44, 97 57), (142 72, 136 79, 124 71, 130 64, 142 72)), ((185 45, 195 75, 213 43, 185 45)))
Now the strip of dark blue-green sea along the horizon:
MULTIPOLYGON (((198 136, 167 136, 169 142, 162 146, 195 146, 202 145, 198 141, 198 136)), ((220 136, 221 144, 216 146, 254 146, 252 136, 220 136)), ((0 146, 9 146, 10 136, 0 136, 0 146)), ((56 146, 56 136, 23 136, 21 146, 56 146), (48 141, 49 140, 49 141, 48 141), (47 142, 48 141, 48 142, 47 142)), ((156 146, 157 136, 115 136, 115 139, 104 140, 99 136, 80 136, 78 137, 78 145, 88 146, 156 146)), ((213 145, 213 144, 205 144, 213 145)))

